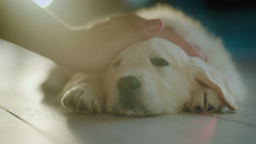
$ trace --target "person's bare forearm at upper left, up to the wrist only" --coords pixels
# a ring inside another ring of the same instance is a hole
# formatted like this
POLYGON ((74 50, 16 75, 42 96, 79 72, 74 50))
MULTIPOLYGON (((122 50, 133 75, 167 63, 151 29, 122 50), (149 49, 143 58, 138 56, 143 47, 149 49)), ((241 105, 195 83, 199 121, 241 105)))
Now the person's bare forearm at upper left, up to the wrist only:
POLYGON ((32 0, 2 0, 0 37, 60 63, 67 57, 72 33, 32 0))

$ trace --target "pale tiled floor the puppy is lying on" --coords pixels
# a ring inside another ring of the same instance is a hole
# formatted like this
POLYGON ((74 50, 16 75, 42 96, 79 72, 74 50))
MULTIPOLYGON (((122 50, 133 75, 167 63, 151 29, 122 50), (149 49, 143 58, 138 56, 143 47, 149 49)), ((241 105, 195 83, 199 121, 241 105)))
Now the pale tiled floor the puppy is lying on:
POLYGON ((0 143, 255 143, 256 68, 238 61, 249 89, 240 111, 154 117, 78 115, 39 89, 52 62, 0 39, 0 143))

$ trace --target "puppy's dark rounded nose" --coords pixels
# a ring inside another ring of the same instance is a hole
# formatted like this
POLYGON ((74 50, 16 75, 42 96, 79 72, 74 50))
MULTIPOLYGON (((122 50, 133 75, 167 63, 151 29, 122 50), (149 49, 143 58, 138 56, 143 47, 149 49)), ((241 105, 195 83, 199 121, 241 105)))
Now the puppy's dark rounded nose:
POLYGON ((124 76, 119 79, 117 87, 119 91, 133 91, 139 88, 139 82, 134 76, 124 76))

